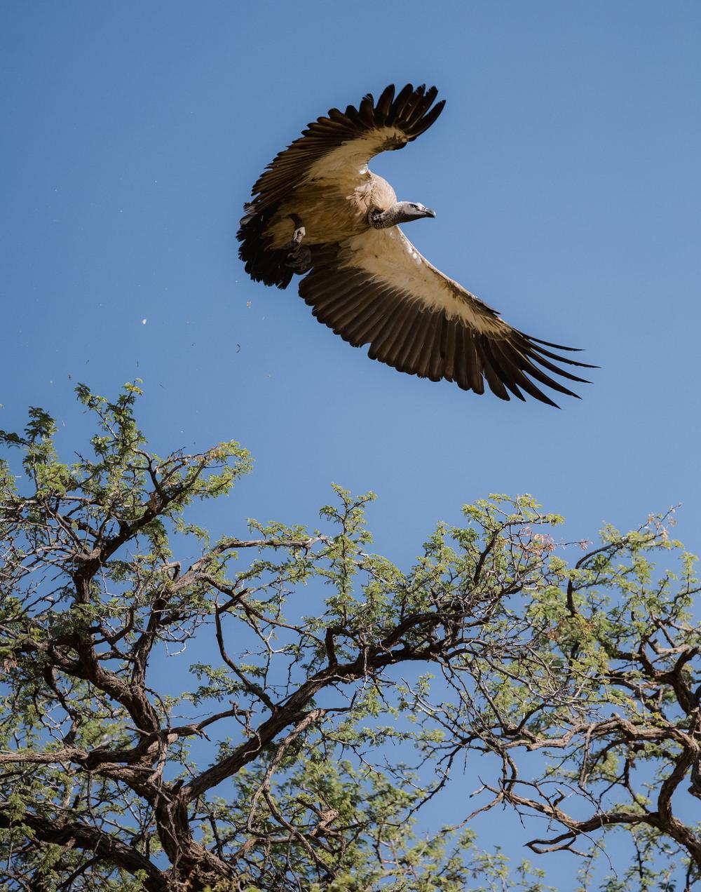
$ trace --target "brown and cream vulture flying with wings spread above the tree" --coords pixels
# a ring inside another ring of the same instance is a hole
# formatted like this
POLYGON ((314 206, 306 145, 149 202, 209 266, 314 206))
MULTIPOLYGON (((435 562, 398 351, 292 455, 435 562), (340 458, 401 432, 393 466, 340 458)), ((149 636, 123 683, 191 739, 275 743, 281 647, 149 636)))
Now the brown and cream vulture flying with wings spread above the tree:
POLYGON ((540 387, 577 396, 557 375, 587 383, 562 365, 595 368, 509 326, 497 310, 441 273, 399 224, 435 217, 420 202, 397 201, 367 168, 402 149, 438 118, 435 87, 408 84, 366 95, 358 108, 331 109, 268 164, 252 188, 238 230, 239 256, 256 282, 286 288, 303 276, 301 297, 319 322, 400 372, 453 381, 500 399, 524 393, 557 406, 540 387))

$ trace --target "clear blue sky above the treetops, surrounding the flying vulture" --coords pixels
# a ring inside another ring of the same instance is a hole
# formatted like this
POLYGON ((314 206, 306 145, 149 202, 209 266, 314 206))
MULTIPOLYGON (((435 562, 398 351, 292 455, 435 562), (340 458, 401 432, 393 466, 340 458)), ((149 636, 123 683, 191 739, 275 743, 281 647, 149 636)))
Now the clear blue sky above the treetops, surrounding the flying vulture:
POLYGON ((40 405, 76 448, 73 386, 139 376, 158 450, 252 450, 200 518, 218 532, 313 525, 334 481, 378 493, 399 563, 491 491, 534 493, 573 538, 682 502, 698 552, 699 46, 684 2, 3 4, 0 426, 40 405), (402 376, 243 272, 265 164, 408 81, 447 107, 373 165, 438 213, 405 231, 515 326, 586 348, 581 401, 402 376))

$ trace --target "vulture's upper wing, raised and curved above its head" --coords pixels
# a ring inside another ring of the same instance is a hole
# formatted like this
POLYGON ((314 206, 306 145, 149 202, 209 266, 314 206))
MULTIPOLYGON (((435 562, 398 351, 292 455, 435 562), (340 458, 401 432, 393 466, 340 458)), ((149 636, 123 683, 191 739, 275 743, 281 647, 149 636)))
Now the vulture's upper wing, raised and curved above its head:
POLYGON ((376 154, 403 148, 441 114, 445 100, 433 105, 437 95, 435 87, 415 89, 407 84, 395 98, 391 84, 376 103, 367 94, 357 109, 352 105, 344 112, 330 109, 268 164, 252 188, 246 210, 266 211, 312 179, 338 174, 350 178, 376 154))

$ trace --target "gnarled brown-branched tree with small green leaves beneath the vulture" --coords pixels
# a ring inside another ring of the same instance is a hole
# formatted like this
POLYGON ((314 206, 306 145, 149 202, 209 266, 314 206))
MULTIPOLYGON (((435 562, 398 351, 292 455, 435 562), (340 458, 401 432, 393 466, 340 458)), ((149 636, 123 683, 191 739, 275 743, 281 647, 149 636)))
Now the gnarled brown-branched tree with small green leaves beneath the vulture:
POLYGON ((159 458, 138 392, 78 387, 99 430, 71 464, 41 409, 0 433, 5 888, 546 888, 474 847, 497 806, 581 856, 578 888, 692 886, 698 586, 671 518, 568 565, 557 516, 491 497, 402 571, 368 551, 372 496, 334 488, 321 532, 210 541, 193 503, 249 456, 159 458), (415 835, 465 760, 462 829, 415 835), (612 830, 635 857, 594 881, 612 830))

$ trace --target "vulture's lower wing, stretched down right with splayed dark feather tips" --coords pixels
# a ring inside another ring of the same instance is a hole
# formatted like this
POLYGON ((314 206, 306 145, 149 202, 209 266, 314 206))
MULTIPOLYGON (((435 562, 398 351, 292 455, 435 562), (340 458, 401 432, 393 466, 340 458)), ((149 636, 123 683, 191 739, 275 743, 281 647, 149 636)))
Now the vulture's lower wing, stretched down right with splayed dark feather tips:
POLYGON ((593 368, 548 351, 570 347, 524 335, 496 310, 425 260, 398 227, 370 229, 312 252, 300 294, 320 322, 368 356, 400 372, 455 381, 463 390, 508 400, 522 391, 557 406, 533 383, 577 396, 546 374, 586 383, 556 362, 593 368))

